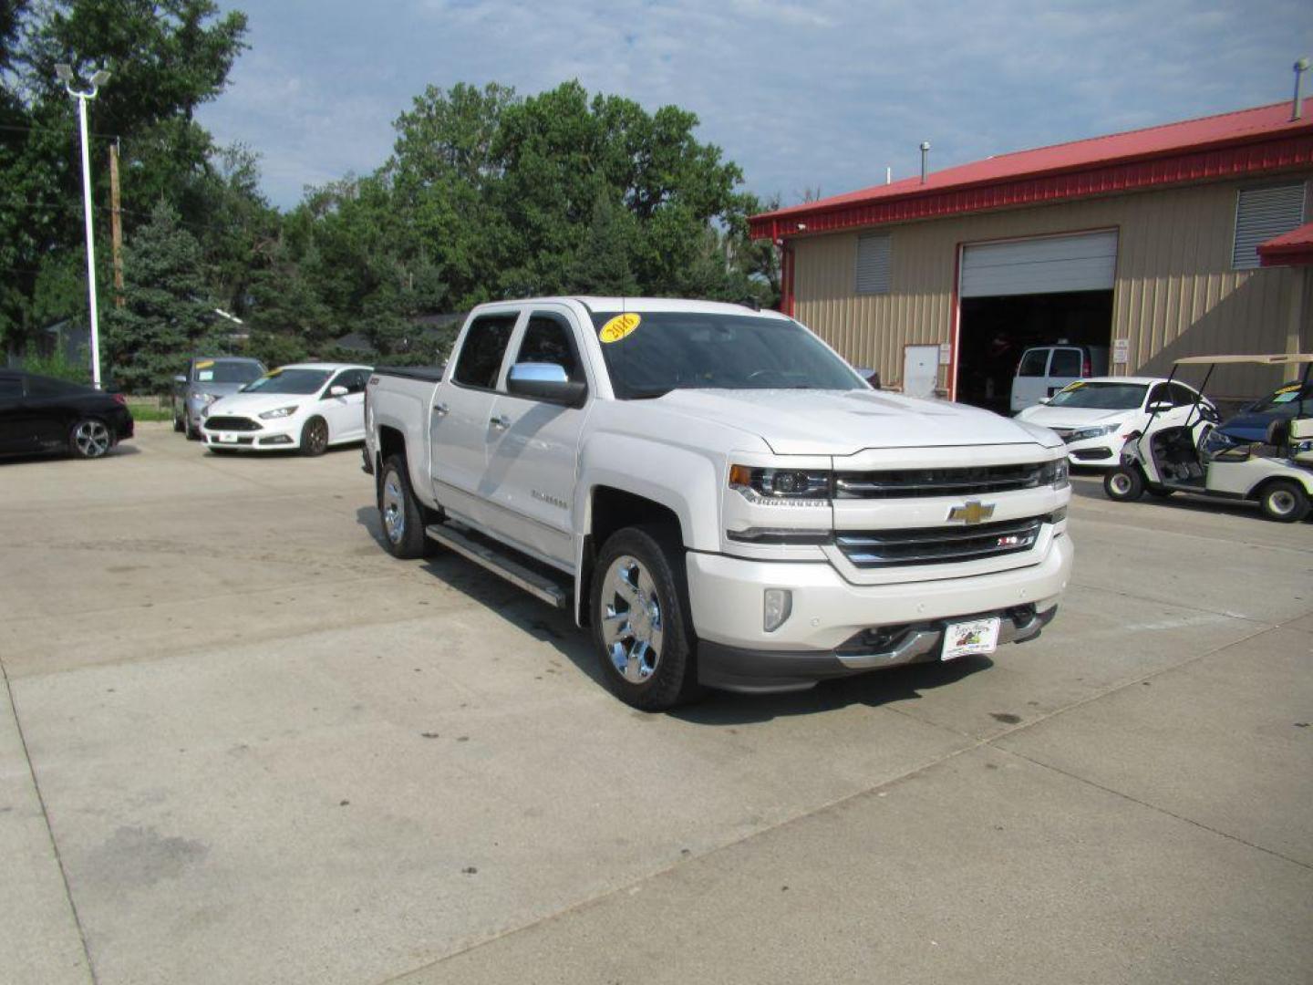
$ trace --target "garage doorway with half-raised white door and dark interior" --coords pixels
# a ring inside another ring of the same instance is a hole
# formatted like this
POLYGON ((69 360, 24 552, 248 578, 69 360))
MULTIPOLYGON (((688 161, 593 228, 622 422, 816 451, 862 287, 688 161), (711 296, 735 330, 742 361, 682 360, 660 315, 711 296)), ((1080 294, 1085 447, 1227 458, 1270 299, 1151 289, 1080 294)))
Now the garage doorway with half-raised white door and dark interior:
POLYGON ((1029 345, 1107 348, 1116 231, 962 247, 957 399, 1007 412, 1029 345))

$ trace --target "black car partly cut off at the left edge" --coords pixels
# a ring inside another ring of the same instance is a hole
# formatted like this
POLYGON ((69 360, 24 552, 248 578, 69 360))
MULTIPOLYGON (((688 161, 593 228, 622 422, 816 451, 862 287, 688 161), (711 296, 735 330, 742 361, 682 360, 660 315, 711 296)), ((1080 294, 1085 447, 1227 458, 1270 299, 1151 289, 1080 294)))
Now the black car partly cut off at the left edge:
POLYGON ((122 394, 0 369, 0 454, 67 452, 100 458, 133 436, 122 394))

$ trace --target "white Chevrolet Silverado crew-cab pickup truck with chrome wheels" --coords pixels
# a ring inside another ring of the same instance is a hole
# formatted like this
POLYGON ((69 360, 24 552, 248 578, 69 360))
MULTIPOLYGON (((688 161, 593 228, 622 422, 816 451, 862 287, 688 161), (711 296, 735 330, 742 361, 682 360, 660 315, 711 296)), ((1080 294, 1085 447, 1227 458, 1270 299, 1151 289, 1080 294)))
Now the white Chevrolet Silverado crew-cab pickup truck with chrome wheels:
POLYGON ((393 554, 571 609, 645 709, 991 653, 1071 570, 1053 432, 872 390, 773 311, 482 305, 445 368, 374 370, 365 431, 393 554))

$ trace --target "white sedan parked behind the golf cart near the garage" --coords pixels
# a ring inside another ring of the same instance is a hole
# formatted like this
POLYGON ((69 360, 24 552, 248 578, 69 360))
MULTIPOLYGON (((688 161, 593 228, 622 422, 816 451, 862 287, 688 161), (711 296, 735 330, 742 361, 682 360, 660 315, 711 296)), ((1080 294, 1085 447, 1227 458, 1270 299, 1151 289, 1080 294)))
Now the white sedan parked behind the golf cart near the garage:
POLYGON ((1111 468, 1132 431, 1142 431, 1153 412, 1159 420, 1183 424, 1196 399, 1212 407, 1194 387, 1161 377, 1099 376, 1077 380, 1016 415, 1046 427, 1067 447, 1071 465, 1111 468))

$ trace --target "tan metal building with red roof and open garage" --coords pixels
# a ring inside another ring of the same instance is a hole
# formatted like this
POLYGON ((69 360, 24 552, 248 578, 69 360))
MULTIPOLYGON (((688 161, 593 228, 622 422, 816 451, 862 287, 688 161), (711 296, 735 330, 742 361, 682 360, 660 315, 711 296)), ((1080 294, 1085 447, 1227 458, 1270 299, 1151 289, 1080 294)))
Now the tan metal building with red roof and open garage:
MULTIPOLYGON (((1313 345, 1313 108, 1291 102, 986 158, 755 215, 781 307, 907 391, 1002 408, 1060 339, 1111 372, 1313 345)), ((1232 374, 1241 395, 1271 381, 1232 374)))

